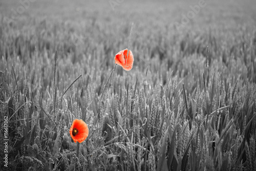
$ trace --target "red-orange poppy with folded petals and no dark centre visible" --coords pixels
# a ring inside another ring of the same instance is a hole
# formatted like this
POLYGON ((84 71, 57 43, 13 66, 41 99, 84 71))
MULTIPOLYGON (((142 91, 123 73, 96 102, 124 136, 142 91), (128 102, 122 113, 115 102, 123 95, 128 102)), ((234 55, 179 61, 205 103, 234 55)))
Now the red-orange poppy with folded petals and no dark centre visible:
POLYGON ((118 52, 115 56, 115 63, 122 66, 124 70, 131 70, 133 68, 133 53, 129 51, 127 57, 127 48, 118 52))

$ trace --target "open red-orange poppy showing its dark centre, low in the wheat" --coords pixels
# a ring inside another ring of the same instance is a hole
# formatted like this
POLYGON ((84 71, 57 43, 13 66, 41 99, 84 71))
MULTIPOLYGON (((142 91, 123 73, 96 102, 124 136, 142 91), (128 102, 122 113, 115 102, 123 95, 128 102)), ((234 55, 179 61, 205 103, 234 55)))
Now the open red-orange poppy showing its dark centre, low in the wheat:
POLYGON ((89 129, 87 124, 84 123, 82 119, 75 119, 72 123, 69 133, 74 142, 78 141, 81 143, 88 137, 89 129))

